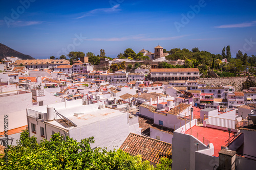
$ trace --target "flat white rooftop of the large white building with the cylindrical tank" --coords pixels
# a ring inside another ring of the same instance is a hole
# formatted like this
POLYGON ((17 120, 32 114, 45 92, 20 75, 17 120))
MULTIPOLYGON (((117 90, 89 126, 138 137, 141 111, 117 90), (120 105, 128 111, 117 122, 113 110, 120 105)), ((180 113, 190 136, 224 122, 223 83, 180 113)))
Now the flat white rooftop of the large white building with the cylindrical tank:
MULTIPOLYGON (((113 110, 109 108, 99 109, 100 105, 103 105, 103 102, 90 104, 90 105, 82 105, 82 99, 74 100, 57 104, 52 104, 51 106, 61 115, 67 117, 71 120, 77 127, 81 127, 84 125, 89 125, 95 122, 99 122, 103 119, 109 119, 116 116, 120 116, 123 114, 127 114, 126 112, 122 112, 119 110, 113 110), (77 113, 78 116, 74 114, 77 113)), ((47 106, 39 106, 30 108, 28 112, 37 112, 38 113, 47 113, 47 106)), ((32 115, 32 114, 29 114, 32 115)), ((54 112, 56 117, 56 114, 54 112)), ((57 116, 55 120, 47 121, 47 124, 51 124, 63 129, 75 129, 77 127, 74 126, 67 126, 66 123, 62 122, 60 117, 57 116)))

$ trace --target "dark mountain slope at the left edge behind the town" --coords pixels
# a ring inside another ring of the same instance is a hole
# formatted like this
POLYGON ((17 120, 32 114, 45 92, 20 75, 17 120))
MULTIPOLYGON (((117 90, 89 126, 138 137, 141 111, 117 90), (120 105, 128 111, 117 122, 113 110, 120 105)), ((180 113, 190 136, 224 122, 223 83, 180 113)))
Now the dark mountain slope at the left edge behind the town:
POLYGON ((0 59, 3 59, 4 57, 11 57, 11 56, 18 57, 21 59, 34 59, 29 55, 19 53, 13 50, 12 48, 0 43, 0 59))

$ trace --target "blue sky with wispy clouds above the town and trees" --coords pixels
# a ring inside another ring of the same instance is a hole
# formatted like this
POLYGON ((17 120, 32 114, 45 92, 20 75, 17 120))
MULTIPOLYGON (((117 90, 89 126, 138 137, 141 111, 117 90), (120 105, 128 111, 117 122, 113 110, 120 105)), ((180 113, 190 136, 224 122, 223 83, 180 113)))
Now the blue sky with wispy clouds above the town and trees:
POLYGON ((0 1, 0 43, 34 58, 230 45, 256 55, 255 1, 0 1), (29 3, 28 3, 29 2, 29 3), (194 11, 193 11, 194 8, 194 11))

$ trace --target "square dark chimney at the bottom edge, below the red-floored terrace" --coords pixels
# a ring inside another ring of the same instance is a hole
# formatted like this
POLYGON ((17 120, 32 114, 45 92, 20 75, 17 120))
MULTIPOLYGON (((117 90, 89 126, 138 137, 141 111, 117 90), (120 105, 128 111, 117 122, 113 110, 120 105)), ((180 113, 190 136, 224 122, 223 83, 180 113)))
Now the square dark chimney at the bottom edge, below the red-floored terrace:
POLYGON ((222 149, 219 152, 219 167, 217 170, 236 169, 236 154, 236 151, 222 149))

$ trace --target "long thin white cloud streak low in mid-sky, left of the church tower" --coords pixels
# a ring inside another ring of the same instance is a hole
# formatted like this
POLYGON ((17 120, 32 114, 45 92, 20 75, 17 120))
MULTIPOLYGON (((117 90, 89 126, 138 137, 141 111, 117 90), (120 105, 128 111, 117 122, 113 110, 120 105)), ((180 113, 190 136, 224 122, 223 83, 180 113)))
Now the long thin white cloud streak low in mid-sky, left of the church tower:
POLYGON ((136 41, 157 41, 157 40, 174 40, 185 37, 187 35, 176 36, 176 37, 158 37, 158 38, 147 38, 144 35, 126 36, 126 37, 112 37, 112 38, 90 38, 84 39, 86 41, 126 41, 126 40, 136 40, 136 41))

